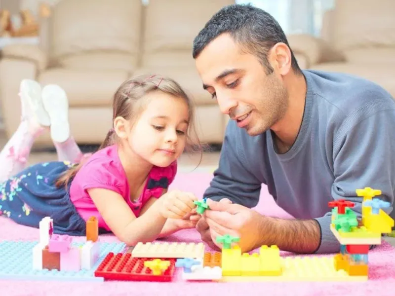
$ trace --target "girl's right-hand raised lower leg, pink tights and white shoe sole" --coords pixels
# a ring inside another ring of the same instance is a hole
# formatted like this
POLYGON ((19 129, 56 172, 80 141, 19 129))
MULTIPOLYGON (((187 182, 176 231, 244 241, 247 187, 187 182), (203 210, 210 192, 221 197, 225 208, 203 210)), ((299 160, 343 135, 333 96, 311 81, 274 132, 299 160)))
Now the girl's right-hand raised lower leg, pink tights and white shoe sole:
POLYGON ((51 121, 51 138, 59 161, 79 162, 82 152, 70 135, 69 102, 66 92, 56 84, 42 89, 42 102, 51 121))

